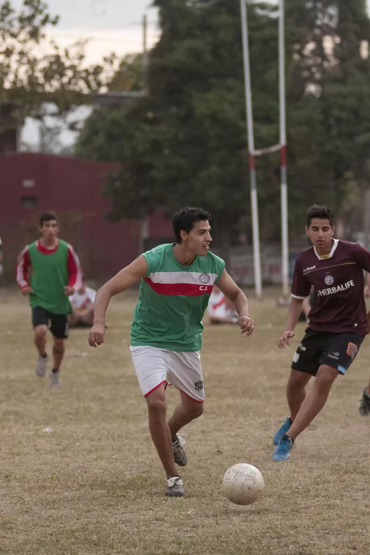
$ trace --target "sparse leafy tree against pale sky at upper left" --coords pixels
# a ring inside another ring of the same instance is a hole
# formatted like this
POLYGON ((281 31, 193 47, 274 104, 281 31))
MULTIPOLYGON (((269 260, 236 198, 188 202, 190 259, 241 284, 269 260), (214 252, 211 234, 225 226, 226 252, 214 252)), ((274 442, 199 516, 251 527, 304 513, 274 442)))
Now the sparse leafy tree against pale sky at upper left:
POLYGON ((27 115, 42 119, 45 102, 52 103, 55 117, 63 117, 77 105, 91 102, 89 94, 111 79, 115 57, 88 66, 84 42, 63 51, 50 42, 50 53, 38 56, 37 45, 46 44, 45 27, 58 21, 42 0, 23 0, 18 12, 9 0, 1 4, 0 104, 8 106, 9 117, 0 122, 0 132, 27 115))

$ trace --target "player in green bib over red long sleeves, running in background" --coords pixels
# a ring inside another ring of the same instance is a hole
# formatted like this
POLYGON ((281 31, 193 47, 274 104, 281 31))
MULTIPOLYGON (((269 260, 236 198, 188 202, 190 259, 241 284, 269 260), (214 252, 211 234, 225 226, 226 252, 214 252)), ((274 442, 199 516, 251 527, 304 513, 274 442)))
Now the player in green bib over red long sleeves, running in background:
POLYGON ((71 312, 68 295, 80 288, 82 272, 72 246, 58 239, 58 220, 53 212, 42 214, 39 230, 41 238, 27 245, 18 256, 17 282, 22 294, 29 295, 32 308, 34 344, 38 351, 36 374, 43 377, 47 370, 45 347, 50 321, 54 339, 50 386, 59 387, 64 340, 68 337, 67 315, 71 312))

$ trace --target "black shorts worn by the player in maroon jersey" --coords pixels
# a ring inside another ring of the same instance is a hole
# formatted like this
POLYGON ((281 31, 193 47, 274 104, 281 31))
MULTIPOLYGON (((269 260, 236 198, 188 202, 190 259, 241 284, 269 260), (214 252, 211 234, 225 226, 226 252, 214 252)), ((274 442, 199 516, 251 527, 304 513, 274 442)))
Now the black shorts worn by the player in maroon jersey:
POLYGON ((318 367, 326 364, 346 374, 364 337, 353 332, 333 334, 308 330, 293 356, 292 369, 316 376, 318 367))

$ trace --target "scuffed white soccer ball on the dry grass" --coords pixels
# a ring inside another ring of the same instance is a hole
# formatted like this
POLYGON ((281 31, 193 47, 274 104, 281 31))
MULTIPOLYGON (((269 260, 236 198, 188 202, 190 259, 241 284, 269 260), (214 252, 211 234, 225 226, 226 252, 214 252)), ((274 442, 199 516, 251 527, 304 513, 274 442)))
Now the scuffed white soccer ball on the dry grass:
POLYGON ((222 493, 236 505, 254 503, 261 497, 264 487, 265 483, 258 468, 245 462, 231 466, 222 478, 222 493))

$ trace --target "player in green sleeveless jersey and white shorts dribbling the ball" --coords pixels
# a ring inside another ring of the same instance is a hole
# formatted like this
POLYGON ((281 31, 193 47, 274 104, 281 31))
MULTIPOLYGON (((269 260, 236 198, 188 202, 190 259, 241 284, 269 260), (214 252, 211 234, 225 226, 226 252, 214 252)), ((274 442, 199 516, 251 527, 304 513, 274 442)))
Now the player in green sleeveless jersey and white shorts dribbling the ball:
POLYGON ((105 312, 111 297, 141 281, 130 351, 148 404, 150 434, 166 472, 166 495, 170 496, 184 495, 175 463, 185 466, 187 459, 177 433, 203 412, 202 317, 214 284, 234 304, 241 333, 250 336, 254 331, 246 296, 227 274, 224 261, 209 251, 209 221, 210 214, 201 208, 176 212, 176 243, 144 253, 99 289, 89 334, 90 346, 104 342, 105 312), (169 421, 168 384, 178 388, 181 397, 169 421))

